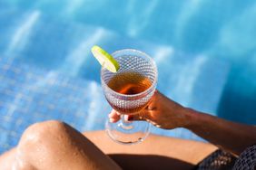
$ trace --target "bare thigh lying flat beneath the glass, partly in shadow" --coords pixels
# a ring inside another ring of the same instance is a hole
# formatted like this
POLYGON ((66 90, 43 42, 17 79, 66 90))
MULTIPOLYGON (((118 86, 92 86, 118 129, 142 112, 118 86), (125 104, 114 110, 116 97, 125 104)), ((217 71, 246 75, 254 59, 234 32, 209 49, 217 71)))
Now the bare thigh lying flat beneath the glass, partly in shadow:
POLYGON ((191 169, 217 149, 208 143, 156 135, 150 135, 141 144, 128 146, 113 142, 104 131, 85 132, 84 136, 117 164, 131 169, 138 165, 151 169, 160 165, 191 169))

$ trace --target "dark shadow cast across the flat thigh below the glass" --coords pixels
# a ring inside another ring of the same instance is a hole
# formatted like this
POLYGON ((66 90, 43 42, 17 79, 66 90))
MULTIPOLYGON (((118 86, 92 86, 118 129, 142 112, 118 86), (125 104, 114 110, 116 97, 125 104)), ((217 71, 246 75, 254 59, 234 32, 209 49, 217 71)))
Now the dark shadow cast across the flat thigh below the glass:
POLYGON ((110 156, 115 163, 120 165, 124 170, 128 169, 193 169, 194 165, 186 163, 179 159, 156 156, 156 155, 126 155, 111 154, 110 156))

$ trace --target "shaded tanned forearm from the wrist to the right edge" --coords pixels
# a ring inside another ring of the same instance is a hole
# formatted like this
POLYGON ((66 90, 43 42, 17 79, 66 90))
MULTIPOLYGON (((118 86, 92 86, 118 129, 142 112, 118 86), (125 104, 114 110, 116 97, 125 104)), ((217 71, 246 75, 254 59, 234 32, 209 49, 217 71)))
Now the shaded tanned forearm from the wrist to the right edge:
POLYGON ((256 127, 234 123, 186 109, 189 118, 187 128, 216 146, 239 155, 246 147, 256 143, 256 127))

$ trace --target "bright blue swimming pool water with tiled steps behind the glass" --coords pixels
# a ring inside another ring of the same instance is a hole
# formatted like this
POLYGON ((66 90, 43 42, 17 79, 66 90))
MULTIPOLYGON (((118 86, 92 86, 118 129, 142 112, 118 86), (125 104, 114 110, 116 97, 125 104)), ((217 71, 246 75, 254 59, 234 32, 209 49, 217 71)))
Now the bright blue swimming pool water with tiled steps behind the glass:
MULTIPOLYGON (((0 153, 37 121, 103 129, 111 108, 94 44, 146 52, 168 97, 255 124, 255 15, 252 0, 0 0, 0 153)), ((153 133, 202 140, 184 129, 153 133)))

